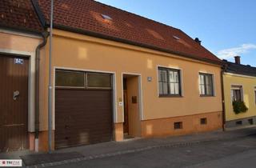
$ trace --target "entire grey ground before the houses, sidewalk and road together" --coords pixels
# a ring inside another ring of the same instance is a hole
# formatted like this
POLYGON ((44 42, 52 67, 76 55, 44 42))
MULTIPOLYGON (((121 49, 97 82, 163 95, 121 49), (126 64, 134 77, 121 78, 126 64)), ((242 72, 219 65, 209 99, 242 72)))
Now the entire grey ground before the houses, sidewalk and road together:
POLYGON ((22 158, 23 166, 26 163, 33 167, 209 167, 208 163, 220 167, 216 162, 230 157, 248 160, 254 154, 255 134, 256 127, 250 127, 166 138, 136 138, 55 150, 53 154, 29 150, 0 153, 0 159, 22 158))

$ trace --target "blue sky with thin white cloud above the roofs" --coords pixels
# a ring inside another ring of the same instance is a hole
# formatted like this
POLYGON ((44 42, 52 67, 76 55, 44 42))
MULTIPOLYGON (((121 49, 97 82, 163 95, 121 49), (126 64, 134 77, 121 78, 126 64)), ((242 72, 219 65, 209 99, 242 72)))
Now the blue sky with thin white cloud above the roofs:
POLYGON ((234 62, 256 66, 255 0, 97 0, 183 30, 234 62))

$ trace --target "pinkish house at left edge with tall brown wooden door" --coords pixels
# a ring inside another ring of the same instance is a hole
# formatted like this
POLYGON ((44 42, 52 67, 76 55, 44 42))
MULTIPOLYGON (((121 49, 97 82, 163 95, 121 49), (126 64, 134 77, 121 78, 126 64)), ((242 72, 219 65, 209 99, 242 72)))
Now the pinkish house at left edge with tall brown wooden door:
POLYGON ((36 48, 42 32, 32 2, 0 1, 0 152, 34 150, 36 48))

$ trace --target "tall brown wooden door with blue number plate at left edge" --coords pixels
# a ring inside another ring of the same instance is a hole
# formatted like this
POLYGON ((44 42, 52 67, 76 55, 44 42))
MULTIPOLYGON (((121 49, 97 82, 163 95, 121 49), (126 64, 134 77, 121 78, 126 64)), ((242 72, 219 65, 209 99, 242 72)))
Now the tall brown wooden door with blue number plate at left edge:
POLYGON ((29 59, 0 55, 0 152, 27 149, 29 59))

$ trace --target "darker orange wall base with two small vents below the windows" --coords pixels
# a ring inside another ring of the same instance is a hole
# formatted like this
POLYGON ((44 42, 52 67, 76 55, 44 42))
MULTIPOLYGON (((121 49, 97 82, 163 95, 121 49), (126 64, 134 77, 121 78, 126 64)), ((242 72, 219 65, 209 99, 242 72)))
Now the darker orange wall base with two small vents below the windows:
POLYGON ((142 121, 142 137, 192 134, 221 128, 222 112, 194 114, 142 121), (201 118, 206 118, 206 124, 201 124, 201 118), (174 129, 174 122, 182 122, 182 128, 174 129))

